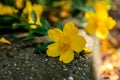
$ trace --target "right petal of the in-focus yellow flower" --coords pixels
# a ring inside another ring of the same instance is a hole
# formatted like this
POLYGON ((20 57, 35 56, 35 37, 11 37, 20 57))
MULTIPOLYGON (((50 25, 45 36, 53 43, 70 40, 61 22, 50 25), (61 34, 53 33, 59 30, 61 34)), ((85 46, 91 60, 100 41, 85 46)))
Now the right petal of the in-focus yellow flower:
POLYGON ((75 52, 80 52, 85 47, 86 40, 82 36, 74 36, 72 41, 71 48, 75 52))

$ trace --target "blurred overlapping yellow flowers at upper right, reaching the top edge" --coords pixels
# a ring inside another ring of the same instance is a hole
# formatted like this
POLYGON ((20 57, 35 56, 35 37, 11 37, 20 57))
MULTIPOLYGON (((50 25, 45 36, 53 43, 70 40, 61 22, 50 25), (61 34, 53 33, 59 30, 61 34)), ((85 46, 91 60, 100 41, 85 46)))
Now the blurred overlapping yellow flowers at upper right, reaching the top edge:
POLYGON ((87 11, 85 13, 87 21, 85 30, 90 35, 95 33, 98 38, 105 39, 109 34, 109 30, 116 25, 116 21, 108 15, 110 2, 109 0, 97 0, 95 2, 88 0, 88 3, 95 7, 96 11, 87 11))

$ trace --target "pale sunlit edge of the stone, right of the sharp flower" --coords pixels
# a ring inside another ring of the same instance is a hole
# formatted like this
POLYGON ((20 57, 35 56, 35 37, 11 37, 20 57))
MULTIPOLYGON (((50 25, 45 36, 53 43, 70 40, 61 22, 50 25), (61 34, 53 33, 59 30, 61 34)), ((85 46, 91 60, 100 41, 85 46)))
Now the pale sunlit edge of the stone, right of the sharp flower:
POLYGON ((100 80, 100 66, 102 58, 99 39, 95 35, 88 35, 84 30, 80 30, 79 33, 85 37, 87 41, 86 47, 93 51, 92 54, 89 55, 89 58, 92 61, 94 80, 100 80))

